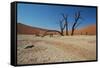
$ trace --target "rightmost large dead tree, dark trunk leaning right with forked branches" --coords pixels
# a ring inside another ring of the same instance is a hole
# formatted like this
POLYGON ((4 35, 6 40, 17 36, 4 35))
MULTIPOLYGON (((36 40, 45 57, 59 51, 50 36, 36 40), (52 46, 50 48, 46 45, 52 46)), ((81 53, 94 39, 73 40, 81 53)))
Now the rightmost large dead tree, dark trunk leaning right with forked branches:
POLYGON ((74 23, 73 23, 73 25, 72 25, 72 32, 71 32, 71 35, 74 34, 74 30, 81 24, 81 23, 78 22, 79 19, 81 19, 80 11, 78 11, 78 12, 75 13, 74 19, 75 19, 75 21, 74 21, 74 23))

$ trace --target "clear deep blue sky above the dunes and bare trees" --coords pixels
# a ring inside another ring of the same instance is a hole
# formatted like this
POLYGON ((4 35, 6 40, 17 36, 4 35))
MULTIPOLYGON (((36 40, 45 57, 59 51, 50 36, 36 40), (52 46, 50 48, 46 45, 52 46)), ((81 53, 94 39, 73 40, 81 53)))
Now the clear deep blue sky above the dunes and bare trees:
POLYGON ((74 22, 74 13, 81 11, 82 20, 78 28, 96 24, 96 8, 75 7, 75 6, 55 6, 18 3, 17 21, 34 27, 59 30, 59 20, 62 13, 68 15, 69 30, 74 22))

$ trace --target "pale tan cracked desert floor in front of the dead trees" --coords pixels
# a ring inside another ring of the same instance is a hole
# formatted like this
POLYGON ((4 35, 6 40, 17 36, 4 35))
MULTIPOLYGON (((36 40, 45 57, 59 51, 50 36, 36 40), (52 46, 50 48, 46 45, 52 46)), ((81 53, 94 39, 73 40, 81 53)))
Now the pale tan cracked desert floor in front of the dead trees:
POLYGON ((96 36, 17 36, 18 64, 86 60, 96 60, 96 36), (34 47, 25 49, 31 45, 34 47))

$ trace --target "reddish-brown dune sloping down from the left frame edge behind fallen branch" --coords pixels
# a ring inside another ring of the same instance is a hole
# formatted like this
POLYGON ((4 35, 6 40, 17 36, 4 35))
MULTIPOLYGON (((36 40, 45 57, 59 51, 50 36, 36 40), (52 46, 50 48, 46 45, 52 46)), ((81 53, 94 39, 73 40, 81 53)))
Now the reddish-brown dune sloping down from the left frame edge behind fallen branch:
POLYGON ((59 35, 57 30, 42 29, 38 27, 32 27, 25 24, 17 23, 17 34, 44 35, 46 31, 48 31, 46 33, 47 35, 50 35, 50 34, 59 35))

